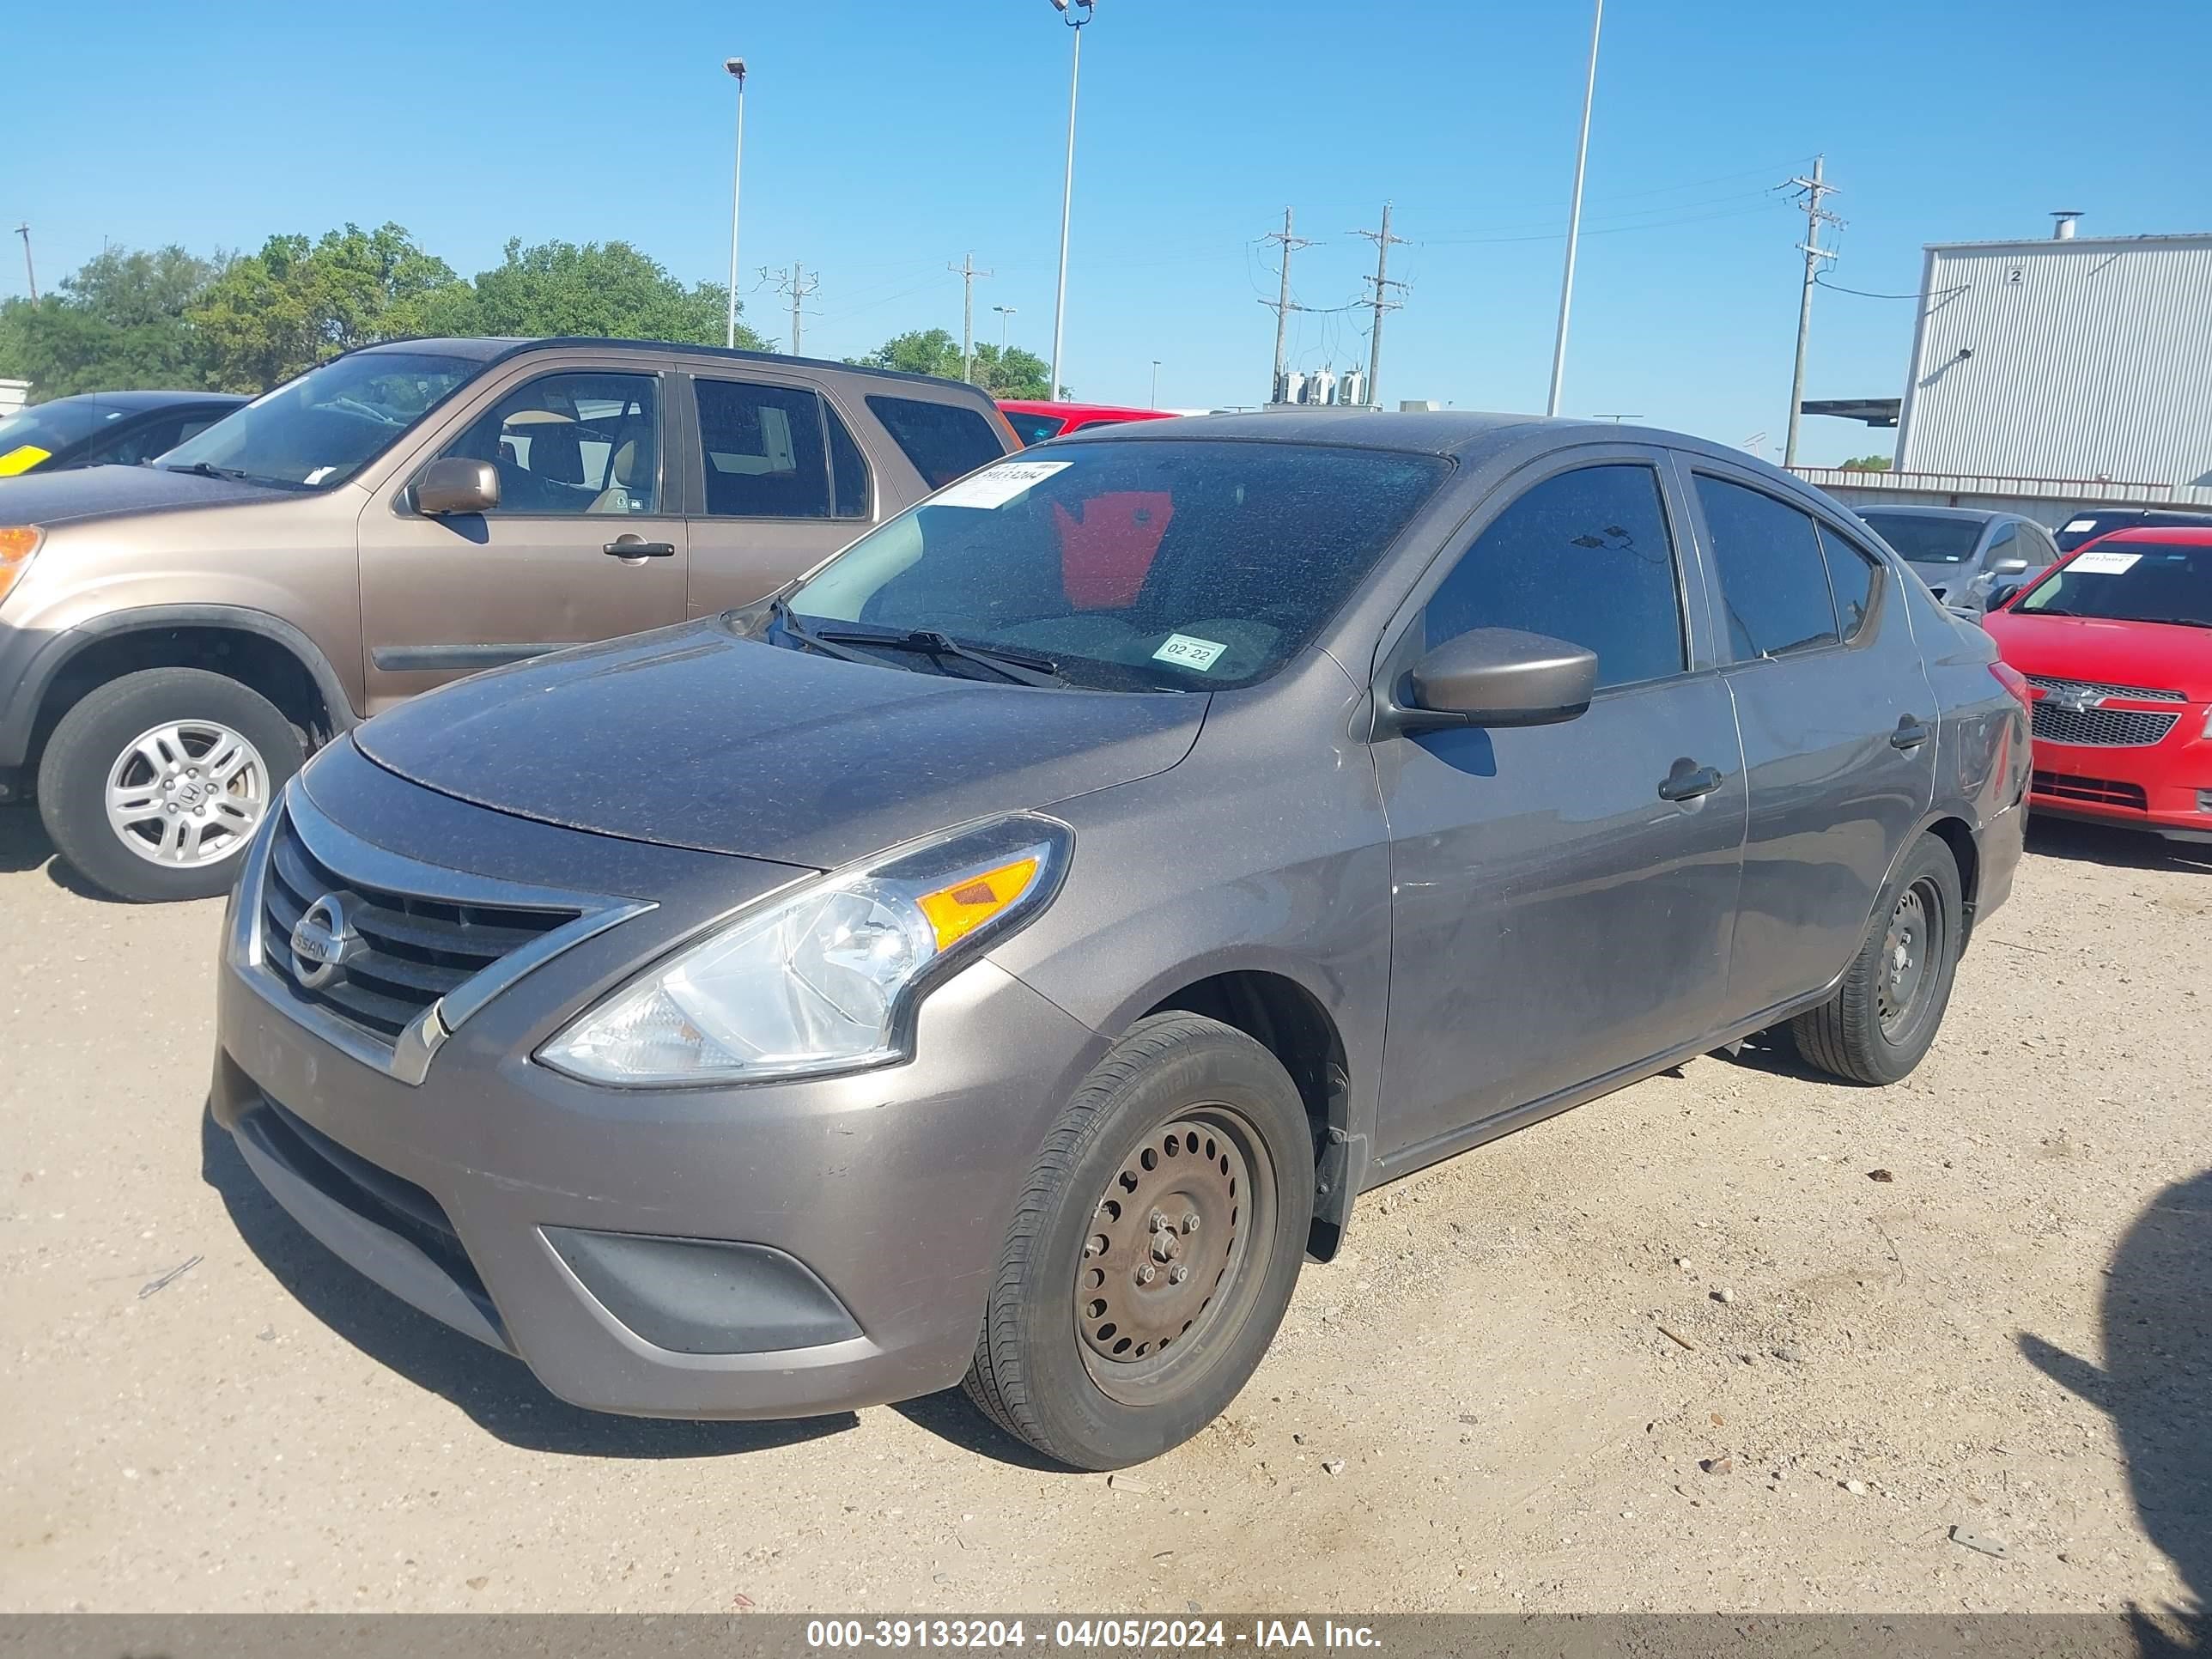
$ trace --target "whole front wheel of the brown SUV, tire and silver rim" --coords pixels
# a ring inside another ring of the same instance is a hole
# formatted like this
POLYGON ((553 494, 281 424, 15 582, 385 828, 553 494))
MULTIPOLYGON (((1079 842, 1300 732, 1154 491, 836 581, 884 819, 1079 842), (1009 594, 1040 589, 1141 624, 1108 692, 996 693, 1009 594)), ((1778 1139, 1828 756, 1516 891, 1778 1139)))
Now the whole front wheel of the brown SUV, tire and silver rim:
POLYGON ((115 898, 212 898, 305 759, 261 692, 204 668, 144 668, 62 714, 38 807, 62 858, 115 898))

